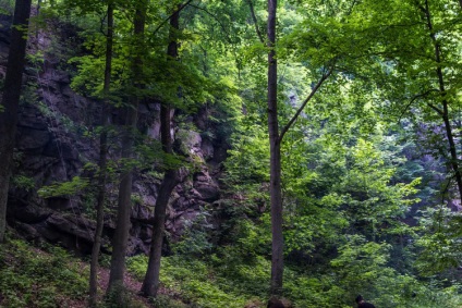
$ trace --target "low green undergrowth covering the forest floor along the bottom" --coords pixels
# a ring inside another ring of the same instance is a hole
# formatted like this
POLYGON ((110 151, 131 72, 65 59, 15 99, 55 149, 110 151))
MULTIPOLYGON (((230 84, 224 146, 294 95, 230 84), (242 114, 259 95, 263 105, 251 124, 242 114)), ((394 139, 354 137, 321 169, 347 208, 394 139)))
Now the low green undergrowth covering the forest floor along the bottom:
MULTIPOLYGON (((50 244, 34 246, 17 236, 9 236, 3 247, 0 252, 0 307, 86 307, 87 259, 73 257, 50 244)), ((131 257, 123 307, 265 307, 269 260, 241 252, 238 246, 229 246, 207 256, 175 254, 165 257, 160 294, 150 300, 138 296, 136 289, 146 271, 147 257, 131 257)), ((121 307, 114 306, 110 297, 102 298, 108 260, 108 256, 101 258, 98 307, 121 307)), ((461 307, 462 296, 458 294, 457 284, 445 287, 441 283, 436 284, 436 280, 434 284, 422 283, 410 275, 397 275, 390 268, 377 271, 370 289, 365 289, 374 296, 369 298, 377 307, 461 307)), ((285 296, 294 307, 354 307, 353 303, 342 304, 348 285, 344 281, 336 282, 335 275, 320 271, 308 274, 303 269, 289 267, 285 296)))

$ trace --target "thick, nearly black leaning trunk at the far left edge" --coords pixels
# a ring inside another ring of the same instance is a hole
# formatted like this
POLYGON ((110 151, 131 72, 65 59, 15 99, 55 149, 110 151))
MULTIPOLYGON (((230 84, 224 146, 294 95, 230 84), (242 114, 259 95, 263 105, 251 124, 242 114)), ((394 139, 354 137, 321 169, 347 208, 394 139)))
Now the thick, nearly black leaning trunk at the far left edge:
POLYGON ((13 163, 29 14, 31 0, 16 0, 3 98, 0 107, 0 243, 4 241, 7 229, 8 189, 13 163))

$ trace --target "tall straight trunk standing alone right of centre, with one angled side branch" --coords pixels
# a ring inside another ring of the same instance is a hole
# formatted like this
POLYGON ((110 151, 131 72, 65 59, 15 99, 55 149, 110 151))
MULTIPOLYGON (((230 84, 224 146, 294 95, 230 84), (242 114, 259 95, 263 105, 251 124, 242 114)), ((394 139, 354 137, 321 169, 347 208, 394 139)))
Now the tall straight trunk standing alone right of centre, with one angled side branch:
POLYGON ((268 0, 268 131, 270 146, 270 202, 271 202, 271 295, 282 292, 283 236, 281 190, 281 143, 278 125, 278 65, 276 60, 277 0, 268 0))

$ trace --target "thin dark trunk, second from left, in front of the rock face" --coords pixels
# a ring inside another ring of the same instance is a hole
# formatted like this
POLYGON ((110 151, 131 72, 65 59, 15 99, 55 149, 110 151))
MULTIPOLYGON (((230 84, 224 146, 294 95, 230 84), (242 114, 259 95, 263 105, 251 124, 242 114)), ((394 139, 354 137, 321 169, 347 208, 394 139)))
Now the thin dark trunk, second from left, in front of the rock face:
POLYGON ((111 85, 112 70, 112 44, 113 44, 113 3, 108 2, 108 33, 106 38, 106 67, 104 100, 101 110, 102 132, 99 137, 99 175, 98 175, 98 198, 96 205, 96 230, 92 249, 92 263, 89 267, 89 292, 88 306, 96 307, 98 292, 98 258, 101 246, 102 227, 105 224, 105 200, 106 200, 106 177, 107 177, 107 155, 108 155, 108 132, 109 124, 109 91, 111 85))

